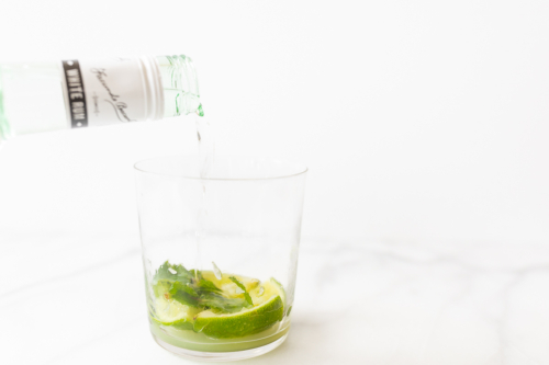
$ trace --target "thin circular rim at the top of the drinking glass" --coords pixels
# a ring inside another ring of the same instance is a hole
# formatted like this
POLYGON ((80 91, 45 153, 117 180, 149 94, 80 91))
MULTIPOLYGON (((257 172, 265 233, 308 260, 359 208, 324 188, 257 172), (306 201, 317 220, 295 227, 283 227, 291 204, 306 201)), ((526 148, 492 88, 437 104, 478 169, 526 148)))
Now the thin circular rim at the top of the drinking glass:
MULTIPOLYGON (((178 179, 186 179, 186 180, 194 180, 194 181, 268 181, 268 180, 279 180, 279 179, 290 179, 290 178, 295 178, 302 174, 305 174, 309 171, 309 168, 304 164, 298 163, 300 168, 298 169, 298 172, 293 173, 287 173, 287 174, 278 174, 269 178, 202 178, 202 176, 191 176, 191 175, 186 175, 186 174, 177 174, 177 173, 167 173, 167 172, 157 172, 157 171, 150 171, 144 168, 139 168, 138 166, 141 163, 144 163, 146 161, 150 160, 163 160, 163 159, 169 159, 169 158, 181 158, 181 159, 198 159, 199 157, 195 155, 168 155, 168 156, 159 156, 159 157, 150 157, 146 158, 144 160, 137 161, 134 163, 133 168, 135 171, 141 172, 141 173, 146 173, 150 175, 157 175, 157 176, 168 176, 168 178, 178 178, 178 179)), ((273 157, 260 157, 260 156, 223 156, 223 158, 229 158, 229 159, 257 159, 257 160, 269 160, 269 161, 279 161, 283 163, 290 164, 288 159, 284 158, 273 158, 273 157)))

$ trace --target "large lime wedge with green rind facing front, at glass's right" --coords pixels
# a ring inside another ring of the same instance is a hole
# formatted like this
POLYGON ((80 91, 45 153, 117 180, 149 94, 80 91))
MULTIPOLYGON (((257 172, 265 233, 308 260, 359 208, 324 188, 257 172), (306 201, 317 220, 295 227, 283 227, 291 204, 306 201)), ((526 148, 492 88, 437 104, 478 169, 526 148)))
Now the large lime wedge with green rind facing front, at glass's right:
POLYGON ((236 313, 219 315, 211 310, 202 311, 195 317, 194 331, 212 339, 239 338, 269 329, 280 321, 283 315, 282 299, 280 295, 274 295, 258 306, 236 313))

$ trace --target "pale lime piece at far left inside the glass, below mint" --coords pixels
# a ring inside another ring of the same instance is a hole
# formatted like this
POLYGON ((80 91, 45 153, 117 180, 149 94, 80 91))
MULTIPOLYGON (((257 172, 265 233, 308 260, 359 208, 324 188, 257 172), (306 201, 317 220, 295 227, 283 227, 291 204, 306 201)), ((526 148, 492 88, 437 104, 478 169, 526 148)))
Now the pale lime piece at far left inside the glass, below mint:
POLYGON ((150 318, 164 326, 171 326, 180 330, 192 330, 192 318, 200 309, 191 308, 173 299, 159 297, 155 300, 155 316, 150 318))

